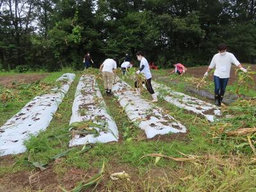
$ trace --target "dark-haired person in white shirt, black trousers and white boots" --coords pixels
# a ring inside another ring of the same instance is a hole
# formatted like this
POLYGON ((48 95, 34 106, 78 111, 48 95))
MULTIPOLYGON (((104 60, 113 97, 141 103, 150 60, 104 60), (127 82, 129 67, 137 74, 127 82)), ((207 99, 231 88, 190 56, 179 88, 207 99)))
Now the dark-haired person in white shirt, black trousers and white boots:
MULTIPOLYGON (((157 102, 157 95, 154 92, 154 90, 152 88, 152 84, 151 84, 152 75, 150 72, 148 61, 144 57, 144 53, 142 51, 137 52, 136 56, 137 56, 138 60, 140 61, 140 69, 136 71, 136 74, 137 75, 140 73, 143 74, 143 76, 145 77, 143 84, 145 84, 148 92, 151 94, 152 102, 157 102)), ((134 85, 135 85, 137 94, 140 95, 140 87, 139 87, 138 81, 135 81, 134 85)))

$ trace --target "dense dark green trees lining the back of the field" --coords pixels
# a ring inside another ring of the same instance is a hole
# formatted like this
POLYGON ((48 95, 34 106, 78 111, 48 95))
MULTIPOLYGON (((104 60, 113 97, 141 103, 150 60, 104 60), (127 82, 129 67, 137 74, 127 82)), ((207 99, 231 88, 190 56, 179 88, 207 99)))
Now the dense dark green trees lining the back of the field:
POLYGON ((81 69, 87 51, 98 66, 137 51, 159 67, 207 65, 220 43, 256 58, 254 0, 0 1, 0 70, 81 69))

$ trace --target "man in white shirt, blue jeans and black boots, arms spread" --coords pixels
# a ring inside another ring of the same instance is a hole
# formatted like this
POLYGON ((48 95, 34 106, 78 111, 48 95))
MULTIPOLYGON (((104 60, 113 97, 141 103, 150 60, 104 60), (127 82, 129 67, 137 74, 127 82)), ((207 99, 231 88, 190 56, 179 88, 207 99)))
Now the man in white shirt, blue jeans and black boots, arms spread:
POLYGON ((221 106, 228 79, 230 77, 232 63, 239 67, 243 72, 247 72, 246 68, 242 67, 234 54, 227 52, 227 45, 219 44, 218 53, 213 56, 211 64, 204 74, 204 77, 207 77, 212 68, 216 68, 213 78, 215 84, 214 99, 216 106, 221 106))

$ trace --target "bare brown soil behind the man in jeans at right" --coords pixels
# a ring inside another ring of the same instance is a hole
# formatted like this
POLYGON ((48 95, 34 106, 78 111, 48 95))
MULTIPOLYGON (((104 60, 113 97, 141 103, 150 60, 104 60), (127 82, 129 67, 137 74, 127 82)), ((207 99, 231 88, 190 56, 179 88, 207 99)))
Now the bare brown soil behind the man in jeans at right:
MULTIPOLYGON (((244 68, 248 67, 247 65, 244 66, 244 68)), ((256 71, 256 65, 250 65, 252 71, 256 71)), ((172 69, 173 70, 173 69, 172 69)), ((172 71, 170 70, 170 72, 172 71)), ((205 71, 207 70, 207 67, 196 67, 196 68, 188 68, 188 74, 191 74, 195 77, 202 78, 204 76, 205 71)), ((228 84, 232 84, 236 81, 236 70, 237 67, 232 66, 230 71, 230 78, 228 81, 228 84)), ((254 81, 256 82, 256 76, 254 76, 254 81)))

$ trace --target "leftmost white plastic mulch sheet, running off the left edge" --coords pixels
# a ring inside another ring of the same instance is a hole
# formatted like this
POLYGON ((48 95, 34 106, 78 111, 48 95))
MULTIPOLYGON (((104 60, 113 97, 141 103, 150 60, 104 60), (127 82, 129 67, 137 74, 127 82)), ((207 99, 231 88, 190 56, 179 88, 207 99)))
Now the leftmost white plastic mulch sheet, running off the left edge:
POLYGON ((59 88, 53 88, 51 93, 35 97, 0 127, 0 156, 26 151, 23 141, 29 138, 29 134, 37 134, 48 127, 52 115, 57 111, 75 76, 63 74, 56 80, 61 83, 59 88))

